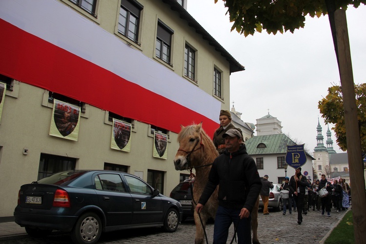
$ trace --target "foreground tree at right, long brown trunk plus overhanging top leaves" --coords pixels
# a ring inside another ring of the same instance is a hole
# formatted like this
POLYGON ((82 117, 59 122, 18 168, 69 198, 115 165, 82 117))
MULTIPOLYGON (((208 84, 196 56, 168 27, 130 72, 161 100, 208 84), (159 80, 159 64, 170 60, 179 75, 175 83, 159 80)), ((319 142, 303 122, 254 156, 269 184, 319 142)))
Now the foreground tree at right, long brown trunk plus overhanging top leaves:
MULTIPOLYGON (((218 0, 214 0, 217 2, 218 0)), ((276 34, 285 31, 294 32, 305 26, 305 16, 320 17, 328 14, 336 52, 339 74, 341 78, 346 140, 348 144, 348 164, 351 183, 353 182, 352 215, 354 220, 354 235, 356 243, 366 240, 366 205, 364 171, 362 165, 361 144, 357 127, 356 104, 354 98, 354 81, 348 30, 346 24, 346 9, 348 5, 357 8, 366 0, 223 0, 228 8, 231 30, 236 30, 244 36, 253 35, 256 31, 276 34)))

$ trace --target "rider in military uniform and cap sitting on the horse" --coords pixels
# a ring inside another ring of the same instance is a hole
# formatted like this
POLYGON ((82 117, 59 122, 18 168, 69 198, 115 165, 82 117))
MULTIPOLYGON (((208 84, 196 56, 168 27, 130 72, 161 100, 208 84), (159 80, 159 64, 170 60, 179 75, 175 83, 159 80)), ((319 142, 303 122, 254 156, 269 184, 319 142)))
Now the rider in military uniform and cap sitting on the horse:
POLYGON ((221 110, 219 120, 220 127, 215 131, 212 141, 214 142, 216 150, 219 152, 219 154, 222 154, 224 153, 226 147, 225 139, 223 137, 224 133, 227 132, 229 129, 236 129, 242 135, 242 140, 243 133, 240 128, 235 128, 235 126, 231 123, 231 114, 229 111, 221 110))

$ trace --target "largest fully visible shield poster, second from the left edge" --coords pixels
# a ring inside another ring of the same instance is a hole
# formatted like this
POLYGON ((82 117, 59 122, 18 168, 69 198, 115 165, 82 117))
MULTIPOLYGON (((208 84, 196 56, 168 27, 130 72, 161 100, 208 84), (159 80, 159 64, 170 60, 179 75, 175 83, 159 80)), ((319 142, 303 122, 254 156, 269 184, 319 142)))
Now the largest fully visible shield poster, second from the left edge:
POLYGON ((54 99, 50 136, 78 141, 80 107, 54 99))

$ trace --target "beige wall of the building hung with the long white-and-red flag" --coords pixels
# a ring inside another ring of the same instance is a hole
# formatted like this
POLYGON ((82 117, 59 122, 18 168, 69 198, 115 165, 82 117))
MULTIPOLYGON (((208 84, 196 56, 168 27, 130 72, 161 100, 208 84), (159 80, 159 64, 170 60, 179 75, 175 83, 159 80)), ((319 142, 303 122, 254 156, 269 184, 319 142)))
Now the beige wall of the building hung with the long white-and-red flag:
MULTIPOLYGON (((68 0, 59 1, 121 38, 122 44, 130 42, 116 32, 120 0, 99 0, 97 19, 68 0)), ((226 59, 163 1, 139 2, 144 6, 140 22, 141 46, 131 43, 131 47, 184 77, 184 45, 188 42, 197 49, 197 85, 201 89, 213 95, 213 69, 217 67, 223 72, 224 100, 218 100, 222 102, 222 108, 228 110, 230 84, 229 63, 226 59), (174 30, 172 67, 155 58, 158 19, 174 30)), ((169 195, 179 183, 180 173, 189 174, 188 171, 174 169, 173 159, 179 146, 176 142, 177 134, 170 132, 167 159, 157 159, 152 156, 153 138, 148 136, 148 124, 135 121, 131 152, 113 150, 110 148, 112 125, 105 120, 106 111, 88 104, 86 113, 81 117, 78 142, 49 136, 52 104, 47 103, 48 91, 21 81, 16 81, 16 84, 13 92, 6 92, 0 123, 0 196, 5 201, 1 204, 0 217, 13 215, 20 185, 37 180, 41 153, 77 158, 77 169, 102 169, 104 163, 127 165, 129 173, 142 171, 145 181, 148 169, 164 171, 164 195, 169 195), (23 155, 23 148, 28 149, 27 155, 23 155)))

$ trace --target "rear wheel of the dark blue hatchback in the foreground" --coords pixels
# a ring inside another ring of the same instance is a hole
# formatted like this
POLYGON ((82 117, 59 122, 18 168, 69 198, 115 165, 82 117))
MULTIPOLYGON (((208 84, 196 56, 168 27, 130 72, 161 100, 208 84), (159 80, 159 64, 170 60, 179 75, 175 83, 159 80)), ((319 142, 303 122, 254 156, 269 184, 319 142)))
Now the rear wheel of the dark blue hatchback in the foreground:
POLYGON ((72 232, 74 243, 97 243, 102 234, 101 218, 95 213, 85 213, 80 216, 72 232))

